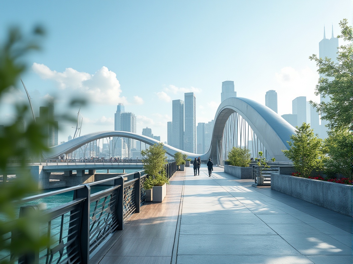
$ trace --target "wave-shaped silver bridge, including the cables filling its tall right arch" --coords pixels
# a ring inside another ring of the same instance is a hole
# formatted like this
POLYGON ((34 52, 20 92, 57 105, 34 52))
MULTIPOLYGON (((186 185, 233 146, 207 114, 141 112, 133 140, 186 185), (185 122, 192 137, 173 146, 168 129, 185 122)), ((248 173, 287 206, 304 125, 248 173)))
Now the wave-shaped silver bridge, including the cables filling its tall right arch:
MULTIPOLYGON (((241 97, 231 97, 220 104, 212 131, 210 148, 203 154, 186 152, 167 144, 163 147, 170 156, 181 152, 190 158, 201 156, 202 160, 211 158, 215 164, 222 164, 229 149, 233 146, 246 146, 251 140, 254 153, 263 151, 265 156, 274 157, 276 161, 288 162, 282 150, 288 149, 287 141, 290 141, 291 135, 295 134, 294 128, 273 110, 251 99, 241 97)), ((131 132, 101 131, 51 147, 49 152, 43 153, 43 156, 56 158, 62 154, 70 154, 80 146, 108 137, 132 138, 149 145, 159 143, 155 139, 131 132)))

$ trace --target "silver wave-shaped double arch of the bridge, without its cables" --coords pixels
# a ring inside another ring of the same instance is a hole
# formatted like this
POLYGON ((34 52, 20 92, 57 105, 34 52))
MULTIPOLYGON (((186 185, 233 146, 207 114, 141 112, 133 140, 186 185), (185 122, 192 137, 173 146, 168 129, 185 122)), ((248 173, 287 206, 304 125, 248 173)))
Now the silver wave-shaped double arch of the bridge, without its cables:
MULTIPOLYGON (((295 134, 294 128, 270 108, 242 97, 227 98, 218 107, 215 115, 210 149, 208 152, 204 154, 195 154, 179 150, 167 144, 164 144, 163 148, 170 156, 174 156, 176 152, 181 152, 191 158, 201 156, 203 160, 212 158, 213 161, 216 161, 217 151, 222 141, 226 121, 229 116, 235 112, 240 114, 247 121, 271 157, 276 158, 276 161, 289 161, 288 158, 283 155, 282 149, 288 149, 289 146, 287 141, 290 140, 292 134, 295 134)), ((43 156, 45 158, 55 158, 61 154, 69 154, 86 143, 107 137, 132 138, 149 145, 159 143, 158 140, 153 138, 131 132, 101 131, 86 134, 58 146, 51 147, 49 148, 50 152, 43 153, 43 156)))

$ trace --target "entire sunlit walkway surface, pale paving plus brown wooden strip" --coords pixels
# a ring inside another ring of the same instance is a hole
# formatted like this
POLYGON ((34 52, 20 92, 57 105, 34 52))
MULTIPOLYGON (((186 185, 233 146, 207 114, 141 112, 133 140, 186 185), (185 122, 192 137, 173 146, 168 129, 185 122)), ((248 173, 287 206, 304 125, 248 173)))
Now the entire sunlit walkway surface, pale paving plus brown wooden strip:
POLYGON ((207 173, 177 172, 163 203, 142 206, 91 264, 352 263, 351 217, 207 173))

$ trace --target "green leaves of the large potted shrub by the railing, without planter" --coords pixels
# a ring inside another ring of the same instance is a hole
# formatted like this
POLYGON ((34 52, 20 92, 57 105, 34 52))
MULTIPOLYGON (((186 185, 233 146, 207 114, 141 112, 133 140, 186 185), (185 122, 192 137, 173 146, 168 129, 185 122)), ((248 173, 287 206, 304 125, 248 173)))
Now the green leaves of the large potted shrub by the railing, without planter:
POLYGON ((151 189, 153 186, 162 186, 169 183, 164 166, 168 163, 166 151, 163 149, 163 143, 156 143, 146 150, 141 151, 143 168, 149 177, 144 182, 145 189, 151 189))

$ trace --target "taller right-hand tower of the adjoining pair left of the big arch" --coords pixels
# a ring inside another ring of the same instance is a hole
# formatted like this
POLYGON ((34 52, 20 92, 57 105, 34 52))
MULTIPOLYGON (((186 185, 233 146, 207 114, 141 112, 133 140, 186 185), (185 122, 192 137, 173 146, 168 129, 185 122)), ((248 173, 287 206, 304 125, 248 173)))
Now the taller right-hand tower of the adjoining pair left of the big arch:
POLYGON ((186 92, 185 96, 185 132, 184 150, 195 153, 196 151, 196 96, 193 92, 186 92))

